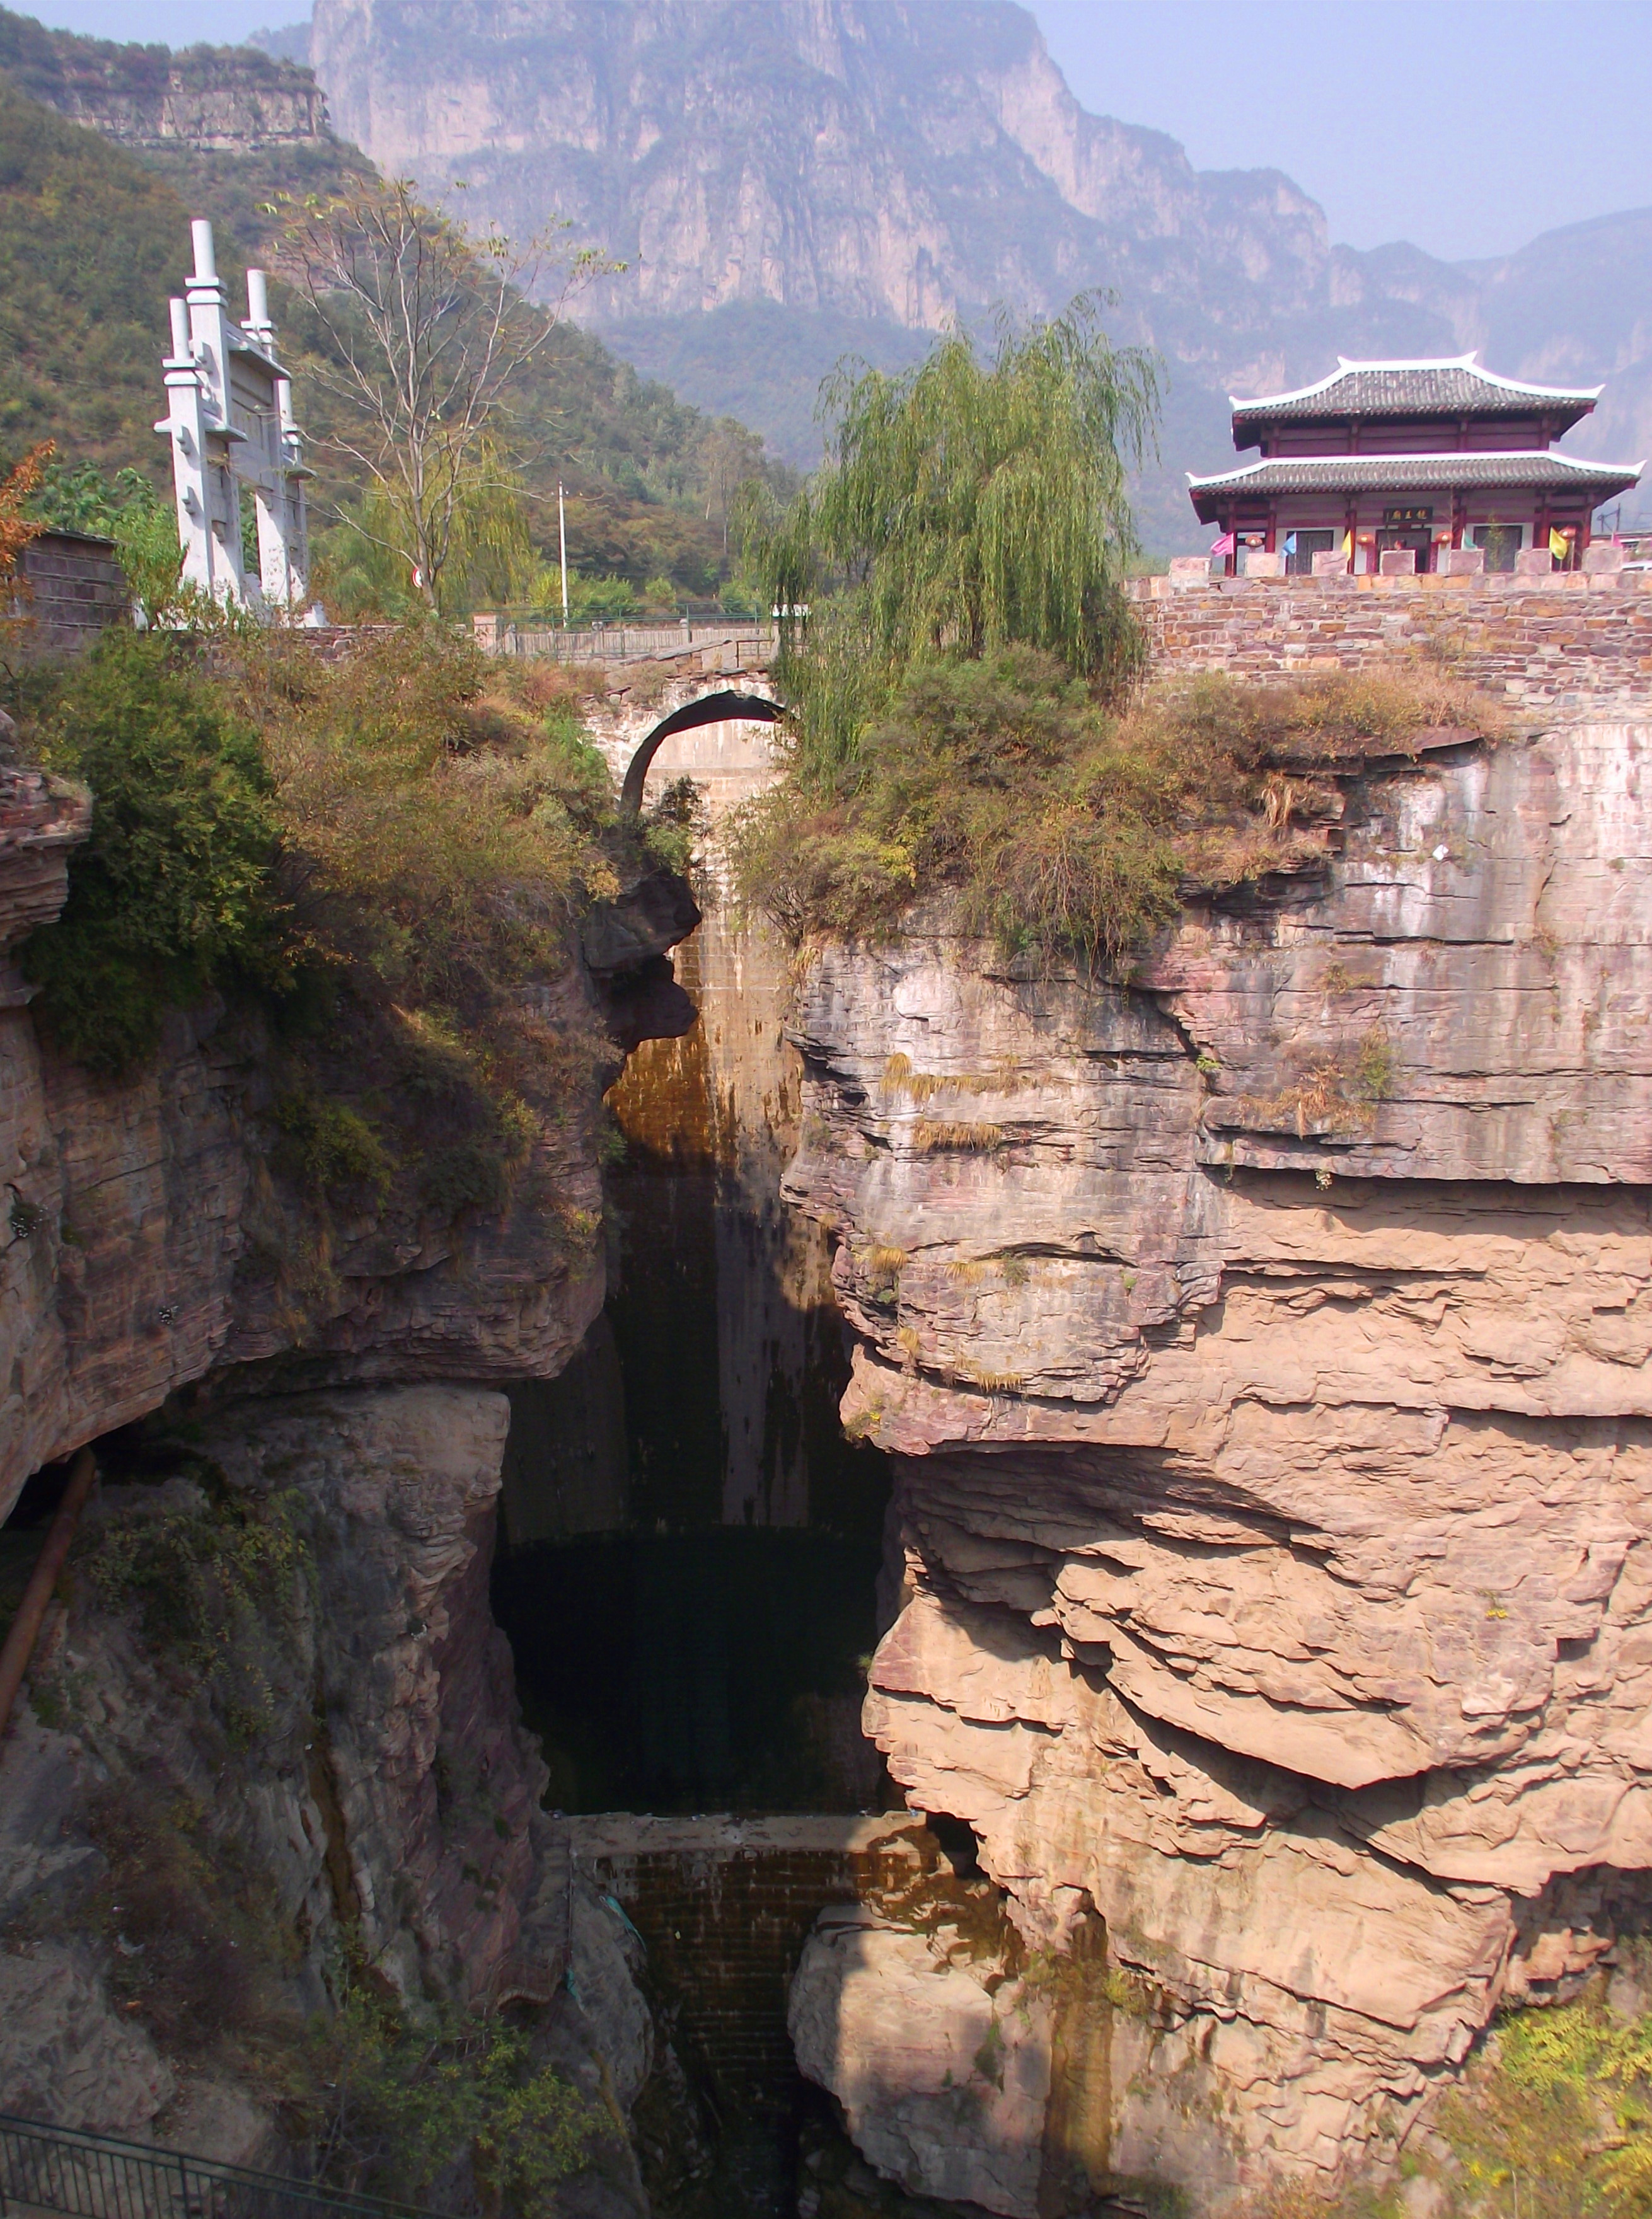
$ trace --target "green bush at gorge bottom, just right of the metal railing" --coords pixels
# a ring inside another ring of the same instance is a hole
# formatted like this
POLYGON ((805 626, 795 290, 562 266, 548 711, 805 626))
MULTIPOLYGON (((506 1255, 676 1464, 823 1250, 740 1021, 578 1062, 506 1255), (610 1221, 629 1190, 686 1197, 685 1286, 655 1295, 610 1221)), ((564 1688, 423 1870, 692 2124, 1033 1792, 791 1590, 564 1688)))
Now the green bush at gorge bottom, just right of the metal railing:
POLYGON ((426 2197, 469 2155, 484 2208, 504 2199, 520 2219, 557 2210, 557 2181, 613 2137, 506 2019, 453 2010, 415 2022, 364 1984, 318 2028, 318 2064, 335 2088, 329 2177, 386 2197, 426 2197))

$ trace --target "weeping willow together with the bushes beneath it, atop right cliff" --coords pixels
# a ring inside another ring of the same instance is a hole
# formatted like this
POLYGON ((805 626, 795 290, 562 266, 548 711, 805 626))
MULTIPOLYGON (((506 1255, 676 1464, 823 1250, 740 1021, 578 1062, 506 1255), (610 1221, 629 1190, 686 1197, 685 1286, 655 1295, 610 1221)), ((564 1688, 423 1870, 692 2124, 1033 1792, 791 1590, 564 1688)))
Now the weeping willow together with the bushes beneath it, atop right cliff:
POLYGON ((788 717, 735 872, 793 941, 946 890, 1010 952, 1119 961, 1190 885, 1323 852, 1326 770, 1468 721, 1443 681, 1130 701, 1126 468, 1157 379, 1088 300, 990 362, 953 335, 901 377, 844 373, 826 404, 824 470, 748 528, 788 717))

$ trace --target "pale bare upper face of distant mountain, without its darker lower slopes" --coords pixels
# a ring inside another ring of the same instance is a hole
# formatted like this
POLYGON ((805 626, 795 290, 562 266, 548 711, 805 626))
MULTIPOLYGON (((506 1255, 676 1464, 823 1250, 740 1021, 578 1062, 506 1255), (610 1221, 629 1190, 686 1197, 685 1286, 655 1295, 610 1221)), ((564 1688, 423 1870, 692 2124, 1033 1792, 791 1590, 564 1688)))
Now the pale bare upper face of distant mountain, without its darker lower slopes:
POLYGON ((1199 288, 1208 353, 1241 300, 1297 313, 1328 286, 1290 180, 1201 175, 1088 115, 1019 7, 318 0, 311 62, 380 166, 464 178, 520 237, 571 215, 624 257, 602 315, 784 302, 939 328, 1106 275, 1132 300, 1128 280, 1199 288))

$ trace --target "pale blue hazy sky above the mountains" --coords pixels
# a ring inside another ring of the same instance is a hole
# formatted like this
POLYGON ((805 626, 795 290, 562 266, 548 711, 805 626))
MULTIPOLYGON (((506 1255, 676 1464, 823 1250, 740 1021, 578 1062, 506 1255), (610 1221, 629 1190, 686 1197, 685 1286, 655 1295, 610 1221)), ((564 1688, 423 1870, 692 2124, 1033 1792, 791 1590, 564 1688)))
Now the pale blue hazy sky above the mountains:
MULTIPOLYGON (((11 0, 20 4, 20 0, 11 0)), ((304 0, 47 0, 47 22, 184 47, 304 0)), ((1332 237, 1448 260, 1652 200, 1652 0, 1032 0, 1088 109, 1199 169, 1283 169, 1332 237)))

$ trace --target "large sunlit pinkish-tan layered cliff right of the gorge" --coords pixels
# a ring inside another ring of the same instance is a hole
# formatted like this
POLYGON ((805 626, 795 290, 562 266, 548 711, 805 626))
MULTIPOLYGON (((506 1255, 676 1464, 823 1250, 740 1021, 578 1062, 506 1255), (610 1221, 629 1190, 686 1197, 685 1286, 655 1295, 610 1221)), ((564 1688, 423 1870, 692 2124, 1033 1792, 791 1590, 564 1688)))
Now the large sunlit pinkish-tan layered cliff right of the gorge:
POLYGON ((1106 1922, 1097 2164, 1197 2206, 1390 2155, 1652 1866, 1650 750, 1374 766, 1130 990, 937 914, 802 994, 866 1724, 1032 1942, 1106 1922))

